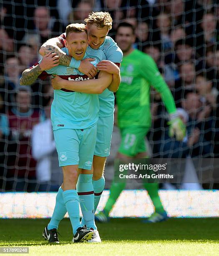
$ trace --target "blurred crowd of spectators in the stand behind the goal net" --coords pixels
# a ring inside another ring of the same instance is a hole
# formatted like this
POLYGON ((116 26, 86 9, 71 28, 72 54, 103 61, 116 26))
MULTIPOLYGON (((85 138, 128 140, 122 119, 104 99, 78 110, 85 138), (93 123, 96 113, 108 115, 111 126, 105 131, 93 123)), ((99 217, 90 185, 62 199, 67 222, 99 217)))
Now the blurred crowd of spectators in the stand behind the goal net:
POLYGON ((169 138, 164 105, 151 90, 151 156, 218 157, 216 0, 0 0, 0 191, 58 189, 62 174, 47 125, 53 88, 50 80, 23 87, 19 78, 47 39, 98 10, 111 14, 112 38, 118 23, 134 26, 134 47, 153 57, 187 126, 184 141, 169 138))

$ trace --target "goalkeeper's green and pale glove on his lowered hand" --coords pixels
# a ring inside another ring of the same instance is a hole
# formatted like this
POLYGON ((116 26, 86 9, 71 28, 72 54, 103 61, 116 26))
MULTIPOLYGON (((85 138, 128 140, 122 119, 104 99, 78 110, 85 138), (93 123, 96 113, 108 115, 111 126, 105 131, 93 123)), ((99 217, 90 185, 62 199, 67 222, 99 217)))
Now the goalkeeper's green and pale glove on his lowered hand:
POLYGON ((179 117, 175 117, 170 120, 168 123, 169 127, 169 136, 176 137, 177 141, 182 141, 186 136, 186 125, 184 125, 183 121, 179 117))

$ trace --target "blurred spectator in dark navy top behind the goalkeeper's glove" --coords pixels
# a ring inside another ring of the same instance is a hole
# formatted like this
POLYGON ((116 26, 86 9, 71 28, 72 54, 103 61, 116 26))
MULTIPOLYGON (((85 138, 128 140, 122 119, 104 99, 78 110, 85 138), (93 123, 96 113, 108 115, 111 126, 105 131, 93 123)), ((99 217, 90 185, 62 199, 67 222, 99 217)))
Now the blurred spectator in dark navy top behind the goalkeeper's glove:
POLYGON ((186 125, 186 136, 183 141, 176 141, 169 136, 169 128, 166 129, 163 138, 160 138, 159 152, 164 158, 186 158, 191 157, 212 157, 213 144, 202 133, 205 129, 211 128, 211 123, 204 122, 203 116, 207 116, 207 109, 201 110, 202 102, 194 92, 188 92, 186 99, 182 102, 183 108, 177 112, 186 125))

